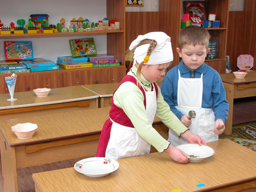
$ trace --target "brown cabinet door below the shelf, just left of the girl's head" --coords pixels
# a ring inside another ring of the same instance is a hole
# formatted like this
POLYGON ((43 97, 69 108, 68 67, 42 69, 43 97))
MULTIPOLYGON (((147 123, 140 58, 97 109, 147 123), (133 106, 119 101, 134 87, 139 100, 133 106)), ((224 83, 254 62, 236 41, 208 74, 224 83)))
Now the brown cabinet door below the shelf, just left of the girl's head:
POLYGON ((124 67, 63 72, 63 87, 119 83, 125 74, 124 67))

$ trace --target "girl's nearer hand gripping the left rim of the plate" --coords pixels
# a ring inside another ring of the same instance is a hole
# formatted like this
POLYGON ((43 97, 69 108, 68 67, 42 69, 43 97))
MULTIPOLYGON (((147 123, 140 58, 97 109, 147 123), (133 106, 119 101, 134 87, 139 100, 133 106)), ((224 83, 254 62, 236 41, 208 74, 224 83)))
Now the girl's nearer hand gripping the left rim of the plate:
POLYGON ((175 148, 171 144, 166 150, 164 150, 164 152, 168 153, 174 161, 183 163, 187 163, 190 161, 188 158, 186 158, 188 156, 186 153, 184 153, 182 150, 178 148, 175 148))

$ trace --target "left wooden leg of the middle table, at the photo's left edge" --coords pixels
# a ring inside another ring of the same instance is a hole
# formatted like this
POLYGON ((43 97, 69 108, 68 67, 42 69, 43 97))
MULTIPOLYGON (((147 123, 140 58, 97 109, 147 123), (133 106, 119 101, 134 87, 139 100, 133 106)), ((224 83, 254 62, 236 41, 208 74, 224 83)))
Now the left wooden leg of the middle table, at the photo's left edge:
POLYGON ((4 192, 18 192, 15 148, 8 146, 2 132, 0 139, 4 192))

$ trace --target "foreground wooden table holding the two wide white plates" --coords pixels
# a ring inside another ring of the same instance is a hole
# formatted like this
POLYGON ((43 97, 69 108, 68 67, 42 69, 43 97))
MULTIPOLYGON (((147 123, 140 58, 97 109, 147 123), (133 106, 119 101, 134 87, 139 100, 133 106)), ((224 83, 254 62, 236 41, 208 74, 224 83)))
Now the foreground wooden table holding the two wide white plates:
POLYGON ((105 177, 87 177, 72 167, 32 174, 32 178, 36 192, 238 192, 256 187, 254 151, 229 139, 208 146, 215 153, 201 162, 182 164, 166 153, 150 153, 118 159, 119 168, 105 177))

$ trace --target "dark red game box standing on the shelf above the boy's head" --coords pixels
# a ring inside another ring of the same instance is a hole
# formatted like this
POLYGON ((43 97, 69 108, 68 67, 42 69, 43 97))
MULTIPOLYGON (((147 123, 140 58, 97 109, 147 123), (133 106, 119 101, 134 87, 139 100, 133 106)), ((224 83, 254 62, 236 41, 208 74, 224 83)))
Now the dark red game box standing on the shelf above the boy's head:
POLYGON ((184 1, 183 2, 184 14, 197 15, 202 20, 206 20, 204 2, 203 1, 184 1))

